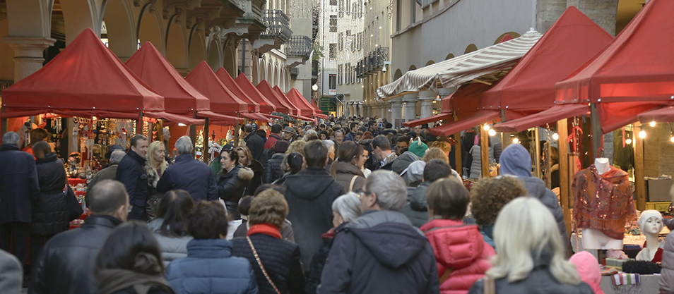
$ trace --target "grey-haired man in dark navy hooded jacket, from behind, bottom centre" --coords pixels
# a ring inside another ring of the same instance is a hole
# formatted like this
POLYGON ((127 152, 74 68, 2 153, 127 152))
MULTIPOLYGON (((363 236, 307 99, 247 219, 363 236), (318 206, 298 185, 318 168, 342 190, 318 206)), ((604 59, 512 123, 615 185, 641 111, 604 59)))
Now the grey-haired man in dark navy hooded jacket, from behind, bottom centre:
POLYGON ((360 218, 335 236, 318 293, 439 293, 435 255, 426 237, 398 210, 405 183, 374 171, 360 196, 360 218))

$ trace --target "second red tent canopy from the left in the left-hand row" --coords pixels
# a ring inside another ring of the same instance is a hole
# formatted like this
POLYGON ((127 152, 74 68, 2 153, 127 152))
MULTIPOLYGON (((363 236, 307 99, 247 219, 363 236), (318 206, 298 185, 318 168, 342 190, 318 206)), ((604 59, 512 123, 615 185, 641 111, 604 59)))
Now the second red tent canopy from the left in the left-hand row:
MULTIPOLYGON (((194 111, 210 109, 208 98, 189 85, 152 43, 143 44, 126 61, 126 66, 164 97, 165 112, 171 115, 163 118, 176 123, 193 124, 201 121, 203 124, 203 120, 193 118, 194 111)), ((151 114, 146 116, 157 118, 151 114)))

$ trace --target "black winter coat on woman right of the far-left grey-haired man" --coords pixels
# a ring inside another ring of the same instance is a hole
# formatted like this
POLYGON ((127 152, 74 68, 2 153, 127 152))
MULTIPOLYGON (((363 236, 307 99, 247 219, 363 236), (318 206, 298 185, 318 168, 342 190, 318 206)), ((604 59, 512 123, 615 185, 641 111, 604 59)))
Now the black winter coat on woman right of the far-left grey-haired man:
POLYGON ((35 160, 40 194, 32 200, 30 233, 54 235, 69 227, 68 206, 63 189, 66 187, 66 170, 56 153, 35 160))

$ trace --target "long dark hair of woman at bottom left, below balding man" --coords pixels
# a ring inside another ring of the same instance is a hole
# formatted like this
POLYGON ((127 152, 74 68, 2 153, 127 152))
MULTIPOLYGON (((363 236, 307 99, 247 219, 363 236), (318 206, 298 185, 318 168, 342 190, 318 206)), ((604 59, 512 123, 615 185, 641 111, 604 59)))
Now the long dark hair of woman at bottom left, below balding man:
POLYGON ((127 269, 164 276, 159 243, 146 223, 129 221, 115 228, 100 249, 95 274, 105 269, 127 269))

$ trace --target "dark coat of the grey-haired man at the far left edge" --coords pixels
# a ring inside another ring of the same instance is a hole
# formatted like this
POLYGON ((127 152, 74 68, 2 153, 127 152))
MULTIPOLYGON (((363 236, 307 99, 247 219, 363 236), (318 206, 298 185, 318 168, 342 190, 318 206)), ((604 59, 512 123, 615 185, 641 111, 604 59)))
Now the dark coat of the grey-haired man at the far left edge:
POLYGON ((31 200, 40 192, 35 158, 14 144, 0 147, 0 223, 30 223, 31 200))

